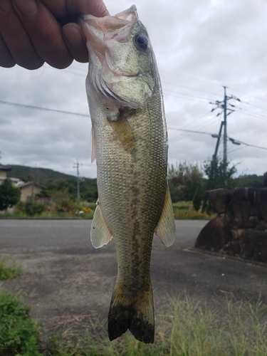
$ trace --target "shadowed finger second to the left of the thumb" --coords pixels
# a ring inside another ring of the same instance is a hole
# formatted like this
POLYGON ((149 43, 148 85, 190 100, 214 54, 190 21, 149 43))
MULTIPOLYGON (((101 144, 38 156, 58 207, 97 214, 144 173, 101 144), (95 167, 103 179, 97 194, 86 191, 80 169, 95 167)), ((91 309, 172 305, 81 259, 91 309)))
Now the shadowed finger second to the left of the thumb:
MULTIPOLYGON (((25 28, 14 11, 11 0, 0 0, 0 33, 5 43, 3 46, 2 41, 1 48, 8 48, 15 63, 27 69, 43 66, 43 61, 34 50, 25 28)), ((5 49, 3 53, 0 53, 0 58, 8 56, 5 49)))

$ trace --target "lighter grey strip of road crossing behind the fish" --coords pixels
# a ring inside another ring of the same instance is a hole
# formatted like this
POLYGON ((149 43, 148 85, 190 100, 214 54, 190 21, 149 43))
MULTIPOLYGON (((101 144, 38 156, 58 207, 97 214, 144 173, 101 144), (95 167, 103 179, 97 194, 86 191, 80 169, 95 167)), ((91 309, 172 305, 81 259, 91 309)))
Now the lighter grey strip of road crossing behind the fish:
MULTIPOLYGON (((193 246, 199 231, 206 221, 179 220, 177 239, 174 246, 193 246)), ((0 220, 0 248, 67 248, 69 246, 85 246, 90 244, 91 220, 31 220, 6 219, 0 220)), ((157 236, 155 246, 161 246, 157 236)))

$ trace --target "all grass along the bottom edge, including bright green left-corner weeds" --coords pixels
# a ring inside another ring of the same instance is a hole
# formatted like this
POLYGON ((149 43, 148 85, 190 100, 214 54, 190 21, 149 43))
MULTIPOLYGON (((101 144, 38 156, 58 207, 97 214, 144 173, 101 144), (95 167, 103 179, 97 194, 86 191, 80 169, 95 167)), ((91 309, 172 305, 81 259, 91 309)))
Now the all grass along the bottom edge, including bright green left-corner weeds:
MULTIPOLYGON (((217 303, 218 304, 218 303, 217 303)), ((27 356, 264 356, 267 305, 260 300, 227 300, 209 308, 187 295, 156 308, 155 343, 145 345, 125 333, 110 342, 106 325, 91 320, 84 335, 68 327, 38 350, 38 325, 20 295, 0 293, 0 355, 27 356)))

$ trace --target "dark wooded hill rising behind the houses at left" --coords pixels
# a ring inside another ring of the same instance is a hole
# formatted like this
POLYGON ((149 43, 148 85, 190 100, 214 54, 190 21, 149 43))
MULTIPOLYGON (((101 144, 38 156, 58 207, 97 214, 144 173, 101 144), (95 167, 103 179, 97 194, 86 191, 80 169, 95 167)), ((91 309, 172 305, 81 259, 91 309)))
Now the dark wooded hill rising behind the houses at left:
POLYGON ((53 171, 47 168, 33 168, 20 165, 10 164, 11 171, 6 172, 7 177, 21 178, 24 182, 35 181, 39 184, 46 185, 48 182, 53 182, 58 179, 75 178, 70 174, 53 171))

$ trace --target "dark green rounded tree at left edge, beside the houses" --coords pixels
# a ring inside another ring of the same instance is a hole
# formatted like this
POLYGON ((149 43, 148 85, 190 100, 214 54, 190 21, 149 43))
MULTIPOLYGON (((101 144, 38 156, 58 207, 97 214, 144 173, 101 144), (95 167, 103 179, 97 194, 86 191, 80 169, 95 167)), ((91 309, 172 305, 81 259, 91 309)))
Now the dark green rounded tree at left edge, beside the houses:
POLYGON ((0 185, 0 210, 6 210, 19 202, 21 190, 14 187, 9 178, 0 185))

